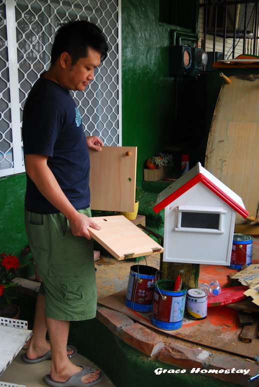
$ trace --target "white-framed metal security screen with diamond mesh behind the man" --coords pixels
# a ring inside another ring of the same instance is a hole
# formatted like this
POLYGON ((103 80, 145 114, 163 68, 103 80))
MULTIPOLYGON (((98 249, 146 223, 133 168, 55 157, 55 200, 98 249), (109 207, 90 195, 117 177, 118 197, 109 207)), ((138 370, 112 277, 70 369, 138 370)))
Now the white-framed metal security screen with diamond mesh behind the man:
POLYGON ((85 19, 108 40, 108 57, 87 92, 73 92, 87 135, 120 144, 119 0, 6 0, 0 2, 0 176, 24 171, 21 119, 27 94, 49 67, 62 22, 85 19))

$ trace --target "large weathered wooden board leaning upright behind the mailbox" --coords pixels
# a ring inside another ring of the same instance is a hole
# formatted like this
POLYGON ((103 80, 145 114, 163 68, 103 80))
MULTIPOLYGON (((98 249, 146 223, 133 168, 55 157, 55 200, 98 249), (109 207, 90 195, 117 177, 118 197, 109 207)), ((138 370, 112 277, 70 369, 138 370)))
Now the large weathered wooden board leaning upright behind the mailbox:
MULTIPOLYGON (((223 84, 207 141, 205 168, 236 192, 255 215, 259 202, 259 79, 223 84)), ((243 218, 236 215, 237 222, 243 218)))

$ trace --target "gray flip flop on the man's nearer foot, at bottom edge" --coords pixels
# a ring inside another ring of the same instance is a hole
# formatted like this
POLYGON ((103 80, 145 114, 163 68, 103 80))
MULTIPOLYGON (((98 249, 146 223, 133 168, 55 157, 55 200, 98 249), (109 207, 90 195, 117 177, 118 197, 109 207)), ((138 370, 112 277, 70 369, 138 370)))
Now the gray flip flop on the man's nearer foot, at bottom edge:
POLYGON ((76 364, 76 365, 78 365, 79 367, 82 367, 83 369, 80 372, 73 374, 71 377, 69 377, 68 380, 64 382, 54 381, 51 379, 50 375, 47 374, 44 377, 45 383, 48 385, 51 385, 52 387, 61 387, 61 386, 62 387, 86 387, 86 386, 91 387, 92 385, 99 383, 103 378, 103 372, 100 371, 100 374, 97 380, 94 380, 90 383, 83 383, 81 381, 81 377, 95 371, 96 368, 86 367, 85 365, 81 365, 81 364, 76 364))

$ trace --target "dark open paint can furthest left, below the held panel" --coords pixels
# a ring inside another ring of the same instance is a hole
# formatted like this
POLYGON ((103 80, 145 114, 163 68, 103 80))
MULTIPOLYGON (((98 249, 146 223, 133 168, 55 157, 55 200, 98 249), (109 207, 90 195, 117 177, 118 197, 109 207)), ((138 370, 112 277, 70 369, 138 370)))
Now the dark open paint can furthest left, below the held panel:
POLYGON ((130 267, 126 306, 133 310, 152 310, 153 287, 159 270, 152 266, 135 264, 130 267))

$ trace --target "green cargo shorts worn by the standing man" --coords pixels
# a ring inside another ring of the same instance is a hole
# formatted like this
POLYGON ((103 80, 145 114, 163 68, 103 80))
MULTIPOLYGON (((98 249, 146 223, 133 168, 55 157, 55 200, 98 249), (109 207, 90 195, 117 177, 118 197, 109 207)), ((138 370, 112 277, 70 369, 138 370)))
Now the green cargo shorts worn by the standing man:
MULTIPOLYGON (((79 212, 90 216, 90 208, 79 212)), ((92 240, 71 233, 65 216, 25 209, 25 229, 42 278, 45 315, 66 321, 96 315, 96 282, 92 240)))

